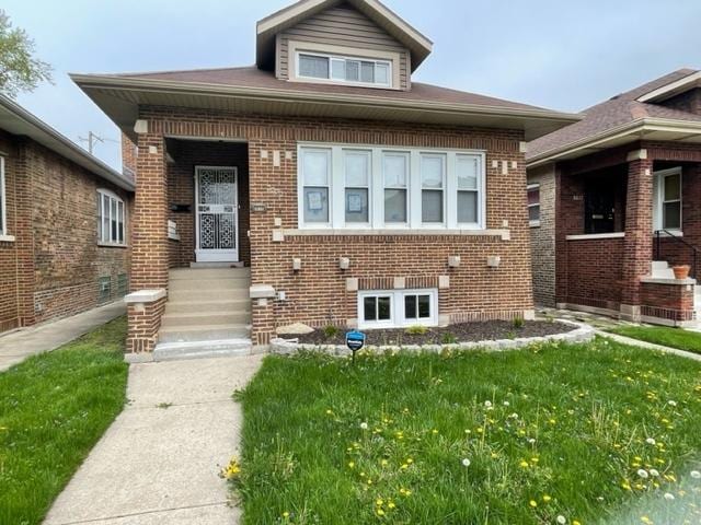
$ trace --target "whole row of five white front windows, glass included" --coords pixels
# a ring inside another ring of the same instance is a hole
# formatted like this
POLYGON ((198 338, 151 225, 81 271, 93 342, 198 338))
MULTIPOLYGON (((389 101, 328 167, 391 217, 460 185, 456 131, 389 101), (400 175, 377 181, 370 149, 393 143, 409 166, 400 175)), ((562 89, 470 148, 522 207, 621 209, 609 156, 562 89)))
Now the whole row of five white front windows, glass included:
POLYGON ((297 153, 302 230, 486 228, 484 151, 310 142, 297 153))

